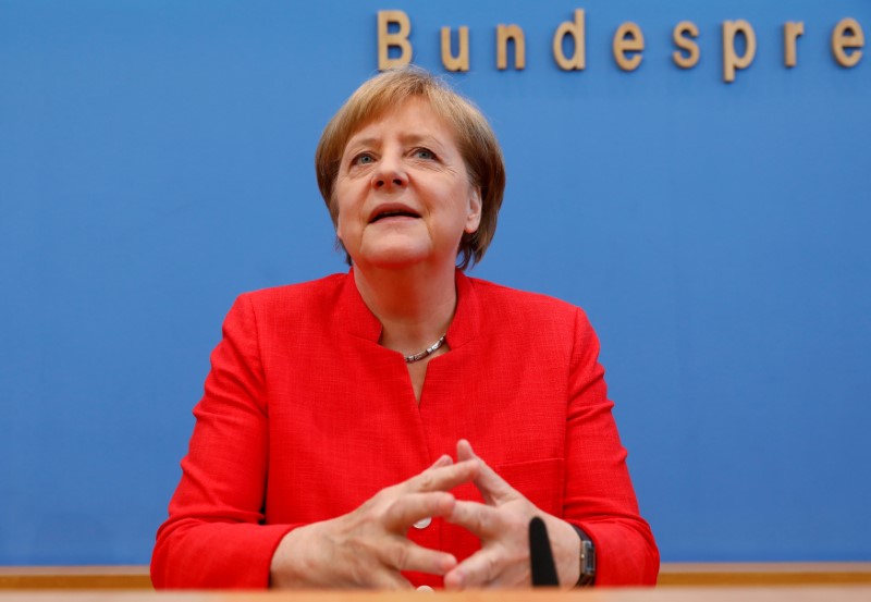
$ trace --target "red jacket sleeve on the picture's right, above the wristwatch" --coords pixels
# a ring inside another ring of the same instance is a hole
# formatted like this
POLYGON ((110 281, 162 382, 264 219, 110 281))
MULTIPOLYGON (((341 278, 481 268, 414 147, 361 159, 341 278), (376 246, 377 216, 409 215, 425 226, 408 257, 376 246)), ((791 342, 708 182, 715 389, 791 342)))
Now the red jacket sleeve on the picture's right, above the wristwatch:
POLYGON ((565 519, 596 545, 597 586, 655 585, 659 551, 638 513, 599 364, 599 341, 580 309, 568 386, 565 519))

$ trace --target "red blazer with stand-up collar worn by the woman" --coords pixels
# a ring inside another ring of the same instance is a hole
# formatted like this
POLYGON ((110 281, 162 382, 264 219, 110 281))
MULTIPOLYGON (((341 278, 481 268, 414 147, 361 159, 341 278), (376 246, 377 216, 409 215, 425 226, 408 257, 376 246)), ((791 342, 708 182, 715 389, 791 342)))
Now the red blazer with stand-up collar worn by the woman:
MULTIPOLYGON (((353 273, 236 300, 157 535, 155 587, 266 588, 285 533, 454 456, 462 438, 539 508, 590 536, 597 585, 655 582, 659 553, 584 312, 462 272, 456 283, 451 351, 429 363, 419 405, 403 357, 378 344, 353 273)), ((471 484, 454 493, 480 500, 471 484)), ((458 560, 479 548, 442 519, 409 538, 458 560)))

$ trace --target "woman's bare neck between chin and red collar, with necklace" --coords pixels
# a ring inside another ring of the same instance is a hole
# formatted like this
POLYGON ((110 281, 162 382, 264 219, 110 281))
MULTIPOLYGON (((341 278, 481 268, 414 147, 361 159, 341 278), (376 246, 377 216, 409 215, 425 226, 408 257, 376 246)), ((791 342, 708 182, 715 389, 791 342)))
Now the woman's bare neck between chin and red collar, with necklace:
POLYGON ((366 306, 381 322, 380 343, 403 355, 419 353, 447 331, 456 309, 455 268, 354 268, 366 306))

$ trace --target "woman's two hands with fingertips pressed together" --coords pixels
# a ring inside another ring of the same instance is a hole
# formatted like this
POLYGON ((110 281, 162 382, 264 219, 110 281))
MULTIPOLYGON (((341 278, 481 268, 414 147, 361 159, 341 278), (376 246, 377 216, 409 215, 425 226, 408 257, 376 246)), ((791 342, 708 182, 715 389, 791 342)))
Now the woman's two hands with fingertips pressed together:
POLYGON ((539 511, 461 440, 456 463, 443 455, 355 511, 287 533, 272 557, 271 585, 410 589, 401 573, 415 570, 444 576, 445 589, 529 586, 528 525, 533 516, 544 518, 551 532, 561 582, 574 583, 578 545, 572 526, 539 511), (475 483, 483 504, 457 501, 450 493, 466 482, 475 483), (415 523, 437 516, 475 533, 481 549, 458 563, 453 554, 405 537, 415 523))

